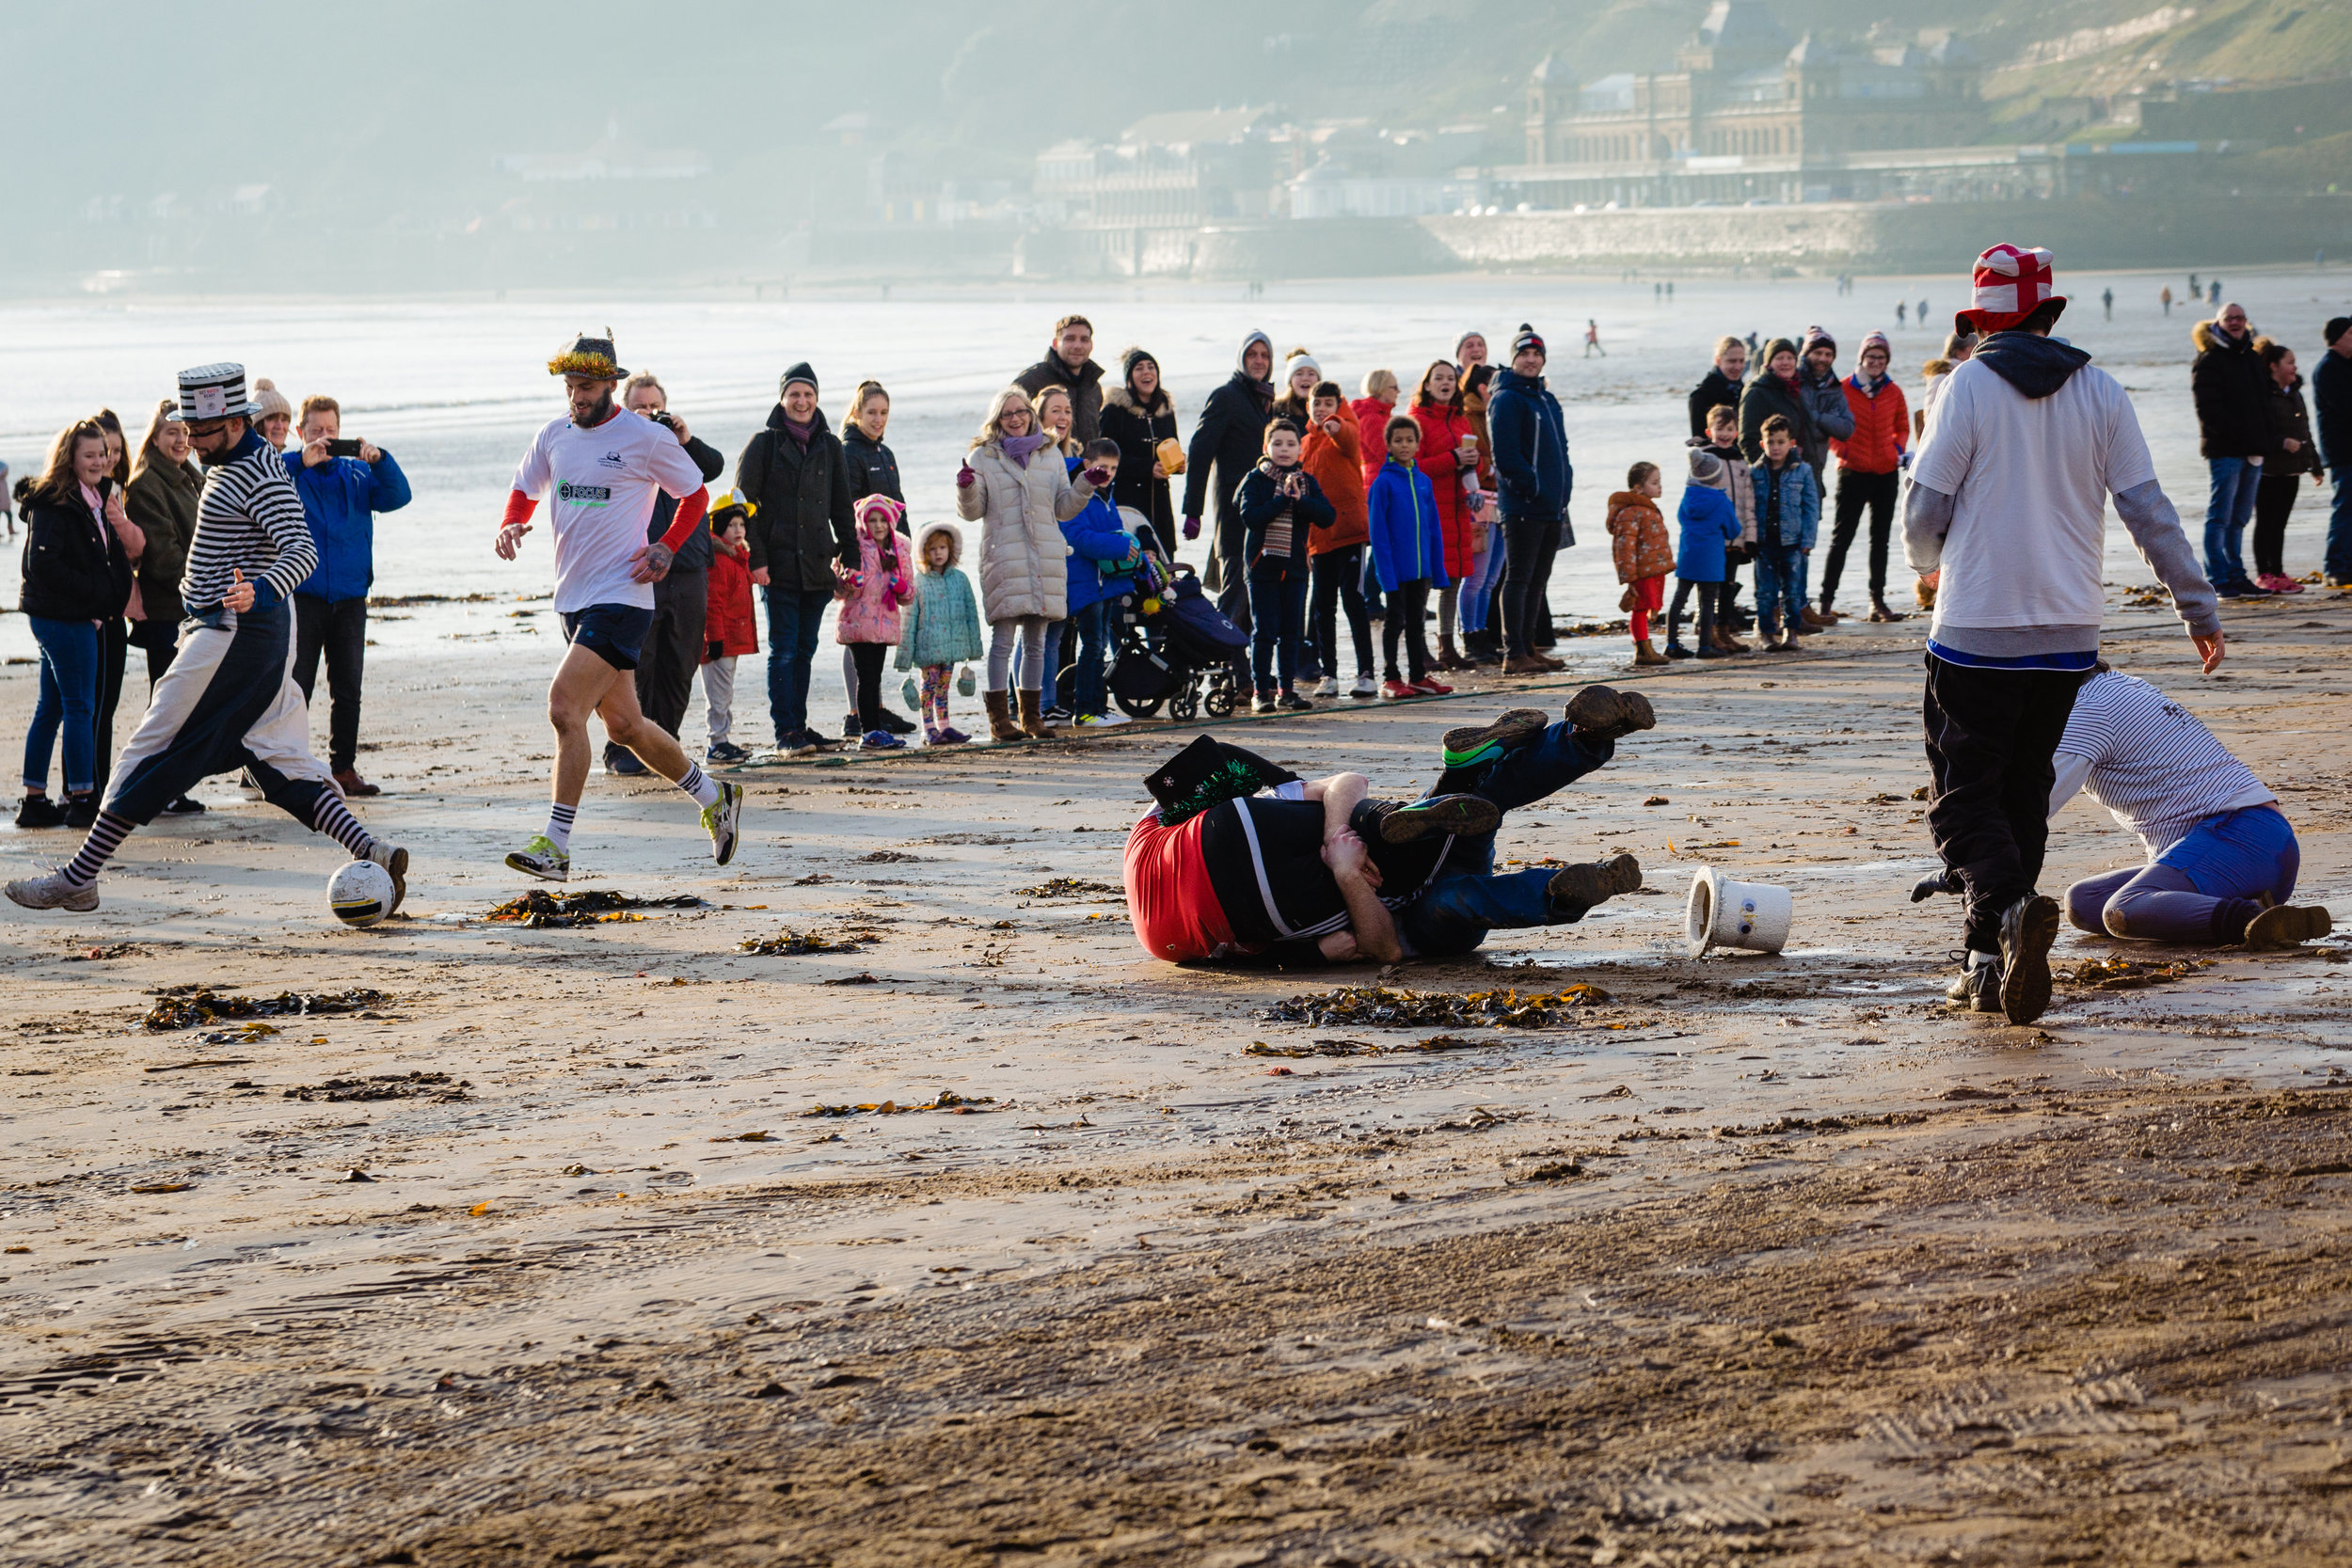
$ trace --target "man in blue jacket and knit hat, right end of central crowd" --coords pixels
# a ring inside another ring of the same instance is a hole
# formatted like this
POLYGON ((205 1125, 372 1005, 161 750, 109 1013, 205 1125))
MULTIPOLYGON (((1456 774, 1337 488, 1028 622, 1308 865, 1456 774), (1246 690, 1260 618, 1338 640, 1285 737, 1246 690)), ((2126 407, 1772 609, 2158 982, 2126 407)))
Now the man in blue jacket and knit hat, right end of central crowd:
POLYGON ((1541 651, 1550 642, 1552 607, 1545 585, 1552 555, 1576 543, 1569 529, 1569 428, 1559 400, 1543 388, 1543 339, 1519 324, 1510 369, 1486 397, 1486 437, 1494 444, 1503 510, 1503 675, 1548 675, 1569 665, 1541 651))

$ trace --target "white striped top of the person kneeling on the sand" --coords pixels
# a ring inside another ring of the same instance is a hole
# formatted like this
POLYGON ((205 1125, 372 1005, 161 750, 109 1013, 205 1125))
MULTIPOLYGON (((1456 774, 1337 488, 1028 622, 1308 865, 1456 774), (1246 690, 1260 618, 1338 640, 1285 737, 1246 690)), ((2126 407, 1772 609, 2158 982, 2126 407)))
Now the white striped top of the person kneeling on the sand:
POLYGON ((2197 823, 2277 799, 2197 715, 2138 675, 2100 670, 2074 693, 2058 741, 2051 813, 2089 790, 2161 856, 2197 823))

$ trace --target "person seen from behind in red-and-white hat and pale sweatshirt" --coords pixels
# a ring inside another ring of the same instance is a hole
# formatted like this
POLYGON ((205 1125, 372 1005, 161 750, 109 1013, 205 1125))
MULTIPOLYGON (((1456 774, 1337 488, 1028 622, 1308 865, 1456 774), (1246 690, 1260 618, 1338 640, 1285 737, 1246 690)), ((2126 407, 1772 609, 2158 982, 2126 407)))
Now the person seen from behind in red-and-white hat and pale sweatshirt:
POLYGON ((1915 571, 1943 574, 1926 644, 1926 818, 1966 893, 1969 950, 1947 994, 2032 1023, 2058 936, 2058 905, 2034 884, 2058 741, 2098 663, 2110 494, 2206 672, 2223 632, 2131 397, 2051 339, 2065 310, 2051 254, 1994 244, 1971 282, 1957 327, 1983 341, 1950 374, 1912 461, 1903 545, 1915 571))

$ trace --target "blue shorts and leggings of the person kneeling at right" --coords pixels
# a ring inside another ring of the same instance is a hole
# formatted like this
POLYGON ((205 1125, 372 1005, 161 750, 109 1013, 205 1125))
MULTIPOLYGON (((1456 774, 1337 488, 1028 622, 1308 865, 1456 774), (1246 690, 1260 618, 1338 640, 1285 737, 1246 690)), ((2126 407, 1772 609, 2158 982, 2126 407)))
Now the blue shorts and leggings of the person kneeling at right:
POLYGON ((2086 877, 2065 891, 2082 931, 2143 943, 2234 943, 2260 912, 2256 896, 2296 896, 2303 846, 2277 806, 2209 816, 2147 865, 2086 877))

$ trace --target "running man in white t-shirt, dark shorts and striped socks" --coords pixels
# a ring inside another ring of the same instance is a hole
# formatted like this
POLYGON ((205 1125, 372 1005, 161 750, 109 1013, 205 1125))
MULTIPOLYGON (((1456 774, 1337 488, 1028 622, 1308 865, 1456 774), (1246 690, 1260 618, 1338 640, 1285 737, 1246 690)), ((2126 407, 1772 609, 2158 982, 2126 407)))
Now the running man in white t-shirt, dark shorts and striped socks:
POLYGON ((515 559, 522 536, 532 531, 539 494, 548 491, 555 614, 572 646, 548 686, 548 722, 555 726, 548 830, 506 863, 546 882, 572 875, 572 820, 588 788, 593 712, 604 719, 614 745, 626 745, 694 797, 710 832, 710 858, 727 865, 736 851, 743 788, 706 778, 677 738, 637 708, 635 682, 637 656, 654 625, 654 583, 668 574, 677 545, 703 527, 710 505, 703 475, 687 456, 684 430, 619 416, 612 393, 628 371, 616 364, 609 336, 576 339, 548 360, 548 374, 564 378, 572 411, 548 423, 522 454, 499 529, 499 557, 515 559), (682 505, 670 531, 647 543, 656 491, 677 496, 682 505))

